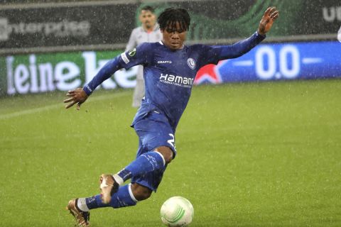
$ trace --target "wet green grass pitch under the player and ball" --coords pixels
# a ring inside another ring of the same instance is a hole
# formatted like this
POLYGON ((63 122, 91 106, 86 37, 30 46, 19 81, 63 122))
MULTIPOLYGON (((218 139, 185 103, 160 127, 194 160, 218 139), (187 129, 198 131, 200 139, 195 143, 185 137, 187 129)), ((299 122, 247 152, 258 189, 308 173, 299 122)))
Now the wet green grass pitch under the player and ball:
MULTIPOLYGON (((97 91, 80 111, 62 93, 0 99, 0 225, 73 226, 69 199, 134 160, 131 90, 97 91)), ((178 156, 137 206, 97 209, 92 226, 163 226, 171 196, 191 226, 341 226, 341 81, 193 89, 178 156)))

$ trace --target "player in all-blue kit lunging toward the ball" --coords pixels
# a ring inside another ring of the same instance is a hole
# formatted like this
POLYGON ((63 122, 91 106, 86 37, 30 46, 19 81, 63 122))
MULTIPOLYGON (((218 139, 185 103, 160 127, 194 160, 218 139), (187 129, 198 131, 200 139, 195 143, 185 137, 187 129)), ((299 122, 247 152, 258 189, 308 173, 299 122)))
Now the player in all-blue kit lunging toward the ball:
POLYGON ((185 9, 166 9, 158 17, 162 41, 143 43, 104 65, 91 82, 67 93, 65 108, 82 103, 105 79, 121 68, 144 65, 146 96, 131 127, 139 137, 136 160, 114 175, 100 177, 101 194, 72 199, 67 209, 78 225, 89 225, 90 209, 134 206, 156 191, 167 165, 175 158, 175 129, 190 99, 195 74, 200 67, 239 57, 264 40, 278 18, 275 7, 266 9, 258 30, 234 45, 184 45, 190 26, 185 9), (131 179, 130 184, 125 184, 131 179))

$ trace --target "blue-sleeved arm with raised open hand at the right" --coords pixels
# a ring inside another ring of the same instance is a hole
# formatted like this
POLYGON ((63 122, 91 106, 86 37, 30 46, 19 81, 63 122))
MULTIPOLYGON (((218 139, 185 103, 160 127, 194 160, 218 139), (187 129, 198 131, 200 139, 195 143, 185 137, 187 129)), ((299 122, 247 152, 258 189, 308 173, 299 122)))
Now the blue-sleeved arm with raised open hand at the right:
POLYGON ((266 38, 266 33, 270 31, 274 21, 278 18, 278 15, 279 13, 278 10, 276 10, 276 7, 269 7, 266 9, 256 33, 233 45, 220 46, 219 60, 240 57, 261 43, 261 41, 266 38))

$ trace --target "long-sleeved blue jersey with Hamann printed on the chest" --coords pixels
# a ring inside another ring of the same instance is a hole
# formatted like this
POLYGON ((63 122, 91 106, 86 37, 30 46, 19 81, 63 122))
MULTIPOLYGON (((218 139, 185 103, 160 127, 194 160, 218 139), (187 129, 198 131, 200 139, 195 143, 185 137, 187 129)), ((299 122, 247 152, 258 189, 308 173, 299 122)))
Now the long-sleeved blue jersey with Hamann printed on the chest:
POLYGON ((133 126, 148 112, 156 111, 168 118, 175 132, 190 99, 197 71, 204 65, 239 57, 264 38, 254 33, 250 38, 234 45, 184 45, 180 50, 171 50, 162 42, 143 43, 108 62, 83 89, 87 94, 91 94, 116 70, 144 65, 145 98, 134 118, 133 126))

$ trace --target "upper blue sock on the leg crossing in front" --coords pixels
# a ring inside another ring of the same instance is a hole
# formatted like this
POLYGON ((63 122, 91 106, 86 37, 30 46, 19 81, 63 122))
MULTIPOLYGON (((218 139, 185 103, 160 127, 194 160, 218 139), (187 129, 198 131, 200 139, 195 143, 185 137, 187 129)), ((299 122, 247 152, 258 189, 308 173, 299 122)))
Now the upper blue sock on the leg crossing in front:
MULTIPOLYGON (((123 182, 125 182, 133 176, 141 176, 145 175, 147 172, 163 169, 165 164, 166 162, 161 153, 151 151, 137 157, 136 160, 131 162, 117 175, 123 179, 123 182)), ((118 183, 120 184, 121 182, 118 183)))

